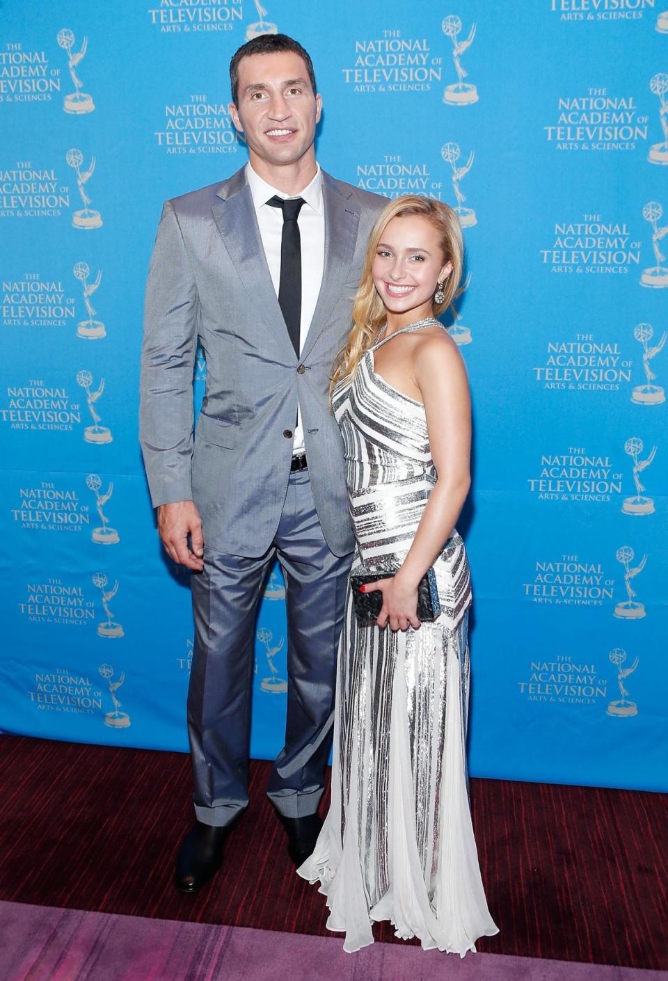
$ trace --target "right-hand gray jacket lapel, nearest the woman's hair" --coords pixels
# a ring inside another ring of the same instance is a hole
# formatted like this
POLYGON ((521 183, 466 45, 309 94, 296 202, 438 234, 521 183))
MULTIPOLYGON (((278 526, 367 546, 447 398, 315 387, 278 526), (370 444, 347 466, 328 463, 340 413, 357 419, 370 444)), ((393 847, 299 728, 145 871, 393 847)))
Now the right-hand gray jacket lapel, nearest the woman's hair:
POLYGON ((334 303, 346 282, 357 241, 359 212, 350 192, 323 171, 323 206, 325 209, 325 265, 318 302, 304 340, 302 360, 308 356, 323 333, 334 303))

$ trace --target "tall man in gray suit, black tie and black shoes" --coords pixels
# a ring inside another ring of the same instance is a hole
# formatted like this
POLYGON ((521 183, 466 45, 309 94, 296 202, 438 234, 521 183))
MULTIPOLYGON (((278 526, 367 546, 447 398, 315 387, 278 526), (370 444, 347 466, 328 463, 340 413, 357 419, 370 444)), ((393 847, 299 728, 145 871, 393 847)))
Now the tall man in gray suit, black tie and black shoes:
POLYGON ((167 201, 146 289, 140 439, 158 531, 192 570, 188 733, 196 821, 176 885, 196 892, 248 803, 253 635, 278 554, 287 607, 285 745, 268 794, 299 865, 312 852, 332 743, 335 654, 353 546, 329 405, 365 245, 385 199, 334 181, 314 150, 322 100, 284 34, 230 66, 249 162, 167 201), (194 432, 192 368, 206 352, 194 432))

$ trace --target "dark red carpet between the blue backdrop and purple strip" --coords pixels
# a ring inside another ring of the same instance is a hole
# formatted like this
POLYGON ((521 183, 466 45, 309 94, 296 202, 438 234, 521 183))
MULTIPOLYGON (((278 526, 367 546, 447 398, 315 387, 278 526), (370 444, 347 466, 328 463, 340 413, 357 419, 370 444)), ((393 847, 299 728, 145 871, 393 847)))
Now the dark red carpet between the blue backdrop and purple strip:
MULTIPOLYGON (((3 736, 0 766, 0 899, 328 935, 264 795, 269 763, 253 764, 226 866, 195 898, 171 882, 191 820, 187 756, 3 736)), ((665 795, 472 780, 471 797, 500 928, 481 951, 668 968, 665 795)))

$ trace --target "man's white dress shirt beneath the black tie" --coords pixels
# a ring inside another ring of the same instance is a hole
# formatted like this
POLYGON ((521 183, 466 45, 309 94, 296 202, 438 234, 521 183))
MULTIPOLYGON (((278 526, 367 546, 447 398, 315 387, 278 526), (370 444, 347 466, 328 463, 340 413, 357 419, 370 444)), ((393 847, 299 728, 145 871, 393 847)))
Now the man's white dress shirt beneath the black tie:
MULTIPOLYGON (((323 179, 318 166, 313 181, 298 194, 285 194, 267 181, 263 181, 255 173, 250 164, 246 164, 246 179, 253 198, 253 206, 260 227, 260 237, 267 258, 267 265, 272 277, 272 283, 279 295, 281 283, 281 238, 283 235, 283 211, 267 204, 270 198, 303 197, 297 225, 301 241, 301 318, 299 321, 299 349, 304 346, 308 333, 320 286, 323 282, 323 267, 325 265, 325 210, 323 207, 323 179)), ((279 330, 284 330, 278 325, 279 330)), ((301 409, 297 411, 297 425, 294 430, 292 453, 304 452, 304 430, 301 423, 301 409)))

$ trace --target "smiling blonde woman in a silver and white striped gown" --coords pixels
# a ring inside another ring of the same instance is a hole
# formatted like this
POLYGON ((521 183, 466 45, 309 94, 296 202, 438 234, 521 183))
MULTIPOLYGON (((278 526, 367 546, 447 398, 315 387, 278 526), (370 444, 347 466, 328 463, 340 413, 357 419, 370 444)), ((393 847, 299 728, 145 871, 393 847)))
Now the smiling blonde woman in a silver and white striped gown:
POLYGON ((470 486, 471 410, 456 344, 435 316, 462 275, 454 212, 390 202, 371 234, 353 328, 334 366, 356 550, 352 575, 395 573, 378 620, 358 621, 350 587, 338 653, 332 805, 299 868, 345 931, 372 922, 464 956, 497 932, 485 899, 467 797, 469 568, 454 524, 470 486), (441 612, 417 617, 436 573, 441 612))

